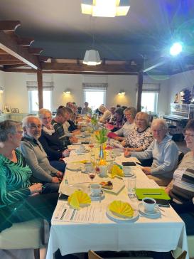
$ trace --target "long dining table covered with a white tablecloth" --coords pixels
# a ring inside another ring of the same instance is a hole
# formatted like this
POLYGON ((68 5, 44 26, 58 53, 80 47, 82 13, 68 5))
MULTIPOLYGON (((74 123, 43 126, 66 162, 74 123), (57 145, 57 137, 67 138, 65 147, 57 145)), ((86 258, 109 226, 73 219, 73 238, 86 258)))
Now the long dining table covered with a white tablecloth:
MULTIPOLYGON (((77 146, 78 147, 78 146, 77 146)), ((77 156, 72 150, 66 162, 76 162, 78 159, 89 159, 90 154, 77 156)), ((117 157, 115 162, 122 164, 126 161, 136 161, 135 158, 125 158, 124 154, 117 157)), ((150 180, 141 170, 141 166, 133 166, 136 174, 136 187, 158 188, 157 184, 150 180)), ((105 179, 107 181, 108 179, 105 179)), ((95 183, 104 181, 104 178, 96 176, 95 183)), ((114 200, 126 201, 135 211, 141 201, 130 199, 126 189, 126 178, 112 179, 113 183, 122 186, 116 194, 104 191, 103 199, 92 201, 88 208, 73 211, 71 217, 63 217, 69 209, 68 202, 58 200, 53 213, 50 228, 50 238, 46 259, 53 259, 56 250, 60 249, 61 255, 70 253, 87 252, 88 250, 151 250, 168 252, 180 247, 188 252, 185 224, 172 207, 163 207, 159 218, 147 218, 139 214, 134 221, 112 221, 107 215, 107 206, 114 200), (63 213, 62 213, 63 212, 63 213), (77 213, 77 216, 75 216, 77 213), (79 214, 80 213, 80 214, 79 214), (79 216, 80 215, 80 216, 79 216), (91 216, 92 215, 92 216, 91 216)), ((65 176, 60 184, 60 192, 73 184, 80 184, 88 188, 92 180, 81 171, 71 171, 67 168, 65 176)), ((187 255, 187 259, 188 259, 187 255)))

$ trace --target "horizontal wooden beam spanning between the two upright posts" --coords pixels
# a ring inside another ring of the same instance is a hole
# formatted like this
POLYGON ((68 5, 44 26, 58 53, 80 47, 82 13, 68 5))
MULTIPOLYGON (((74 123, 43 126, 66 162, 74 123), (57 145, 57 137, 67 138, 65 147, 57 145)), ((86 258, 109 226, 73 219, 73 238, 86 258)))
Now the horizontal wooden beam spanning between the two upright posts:
POLYGON ((67 63, 42 63, 42 70, 58 70, 71 73, 130 73, 139 72, 139 67, 131 65, 83 65, 67 63))

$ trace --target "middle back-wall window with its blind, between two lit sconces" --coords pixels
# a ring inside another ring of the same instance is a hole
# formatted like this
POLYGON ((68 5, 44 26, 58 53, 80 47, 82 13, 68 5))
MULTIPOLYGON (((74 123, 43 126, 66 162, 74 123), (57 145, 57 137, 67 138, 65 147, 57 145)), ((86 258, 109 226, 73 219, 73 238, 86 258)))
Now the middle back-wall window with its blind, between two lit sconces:
POLYGON ((100 105, 106 105, 107 84, 83 84, 83 103, 88 102, 92 110, 100 105))

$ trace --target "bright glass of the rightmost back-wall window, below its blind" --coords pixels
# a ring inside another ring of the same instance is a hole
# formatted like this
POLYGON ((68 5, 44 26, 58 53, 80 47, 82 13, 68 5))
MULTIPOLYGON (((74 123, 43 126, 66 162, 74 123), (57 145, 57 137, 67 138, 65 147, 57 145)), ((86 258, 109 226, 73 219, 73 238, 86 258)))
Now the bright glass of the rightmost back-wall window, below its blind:
POLYGON ((141 95, 141 110, 142 112, 151 112, 156 114, 158 105, 158 93, 146 93, 141 95))

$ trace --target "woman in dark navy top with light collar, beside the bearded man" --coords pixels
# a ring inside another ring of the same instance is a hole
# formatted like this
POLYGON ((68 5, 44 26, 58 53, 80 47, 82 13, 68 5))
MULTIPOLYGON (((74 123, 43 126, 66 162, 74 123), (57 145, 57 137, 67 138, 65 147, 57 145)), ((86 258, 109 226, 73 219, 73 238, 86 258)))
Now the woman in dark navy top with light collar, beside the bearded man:
POLYGON ((65 163, 63 157, 68 157, 70 151, 64 142, 59 139, 58 133, 51 125, 52 115, 50 110, 41 109, 38 111, 39 118, 42 122, 41 137, 38 141, 41 142, 43 149, 48 155, 50 165, 59 171, 65 171, 65 163))

